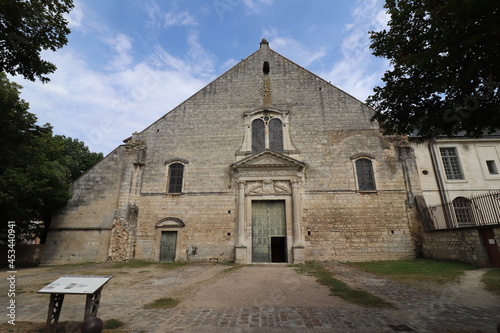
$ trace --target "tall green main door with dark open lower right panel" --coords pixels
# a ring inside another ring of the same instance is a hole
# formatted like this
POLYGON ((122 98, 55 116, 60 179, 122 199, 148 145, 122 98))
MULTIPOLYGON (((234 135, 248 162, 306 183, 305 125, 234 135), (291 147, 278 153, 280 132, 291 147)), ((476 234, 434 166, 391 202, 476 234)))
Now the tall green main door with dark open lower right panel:
POLYGON ((252 261, 287 261, 284 200, 252 201, 252 261))

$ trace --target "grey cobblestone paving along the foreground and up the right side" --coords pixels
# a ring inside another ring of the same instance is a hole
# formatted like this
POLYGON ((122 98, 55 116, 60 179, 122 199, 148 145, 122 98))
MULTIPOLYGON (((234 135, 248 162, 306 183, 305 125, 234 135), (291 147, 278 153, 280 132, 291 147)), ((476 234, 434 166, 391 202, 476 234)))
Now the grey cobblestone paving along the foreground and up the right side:
MULTIPOLYGON (((256 268, 258 269, 258 268, 256 268)), ((498 305, 464 306, 425 290, 388 281, 345 265, 336 277, 361 281, 363 289, 398 309, 328 307, 190 308, 143 312, 137 332, 496 332, 498 305)))

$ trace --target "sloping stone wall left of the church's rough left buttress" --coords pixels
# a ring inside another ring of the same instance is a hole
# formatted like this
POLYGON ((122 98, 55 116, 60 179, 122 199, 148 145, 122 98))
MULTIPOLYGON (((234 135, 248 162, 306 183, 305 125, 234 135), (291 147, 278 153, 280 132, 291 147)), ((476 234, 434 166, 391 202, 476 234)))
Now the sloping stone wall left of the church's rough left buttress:
POLYGON ((73 183, 73 197, 52 217, 43 264, 107 260, 123 156, 123 147, 118 147, 73 183))

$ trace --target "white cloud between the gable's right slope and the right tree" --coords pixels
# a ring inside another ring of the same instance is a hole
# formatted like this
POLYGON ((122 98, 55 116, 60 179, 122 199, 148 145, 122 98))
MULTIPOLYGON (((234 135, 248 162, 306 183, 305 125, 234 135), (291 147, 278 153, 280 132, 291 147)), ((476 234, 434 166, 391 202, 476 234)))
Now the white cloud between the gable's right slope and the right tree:
POLYGON ((340 46, 341 60, 321 74, 332 84, 360 100, 373 93, 373 87, 388 68, 388 62, 375 58, 369 49, 368 31, 379 31, 389 20, 382 0, 358 0, 352 22, 345 26, 340 46))

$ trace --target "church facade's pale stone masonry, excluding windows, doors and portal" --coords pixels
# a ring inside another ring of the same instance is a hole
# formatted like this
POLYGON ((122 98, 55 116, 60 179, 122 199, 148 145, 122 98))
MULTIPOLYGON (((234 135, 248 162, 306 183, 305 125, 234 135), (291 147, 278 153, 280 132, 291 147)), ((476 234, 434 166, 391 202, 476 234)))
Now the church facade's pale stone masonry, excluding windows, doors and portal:
MULTIPOLYGON (((283 125, 296 149, 290 157, 305 163, 298 212, 307 259, 415 255, 416 214, 397 144, 370 121, 373 110, 264 46, 75 183, 74 199, 49 232, 51 260, 157 261, 162 231, 177 231, 177 260, 194 246, 200 260, 234 259, 238 192, 231 164, 246 157, 238 155, 245 113, 263 108, 287 114, 283 125), (373 163, 372 193, 357 190, 360 155, 373 163), (182 194, 166 193, 171 161, 185 165, 182 194), (160 223, 168 218, 182 222, 160 223), (100 228, 99 239, 111 237, 109 248, 88 252, 89 237, 78 228, 100 228), (59 249, 50 244, 59 239, 59 249)), ((251 223, 247 218, 247 231, 251 223)))

